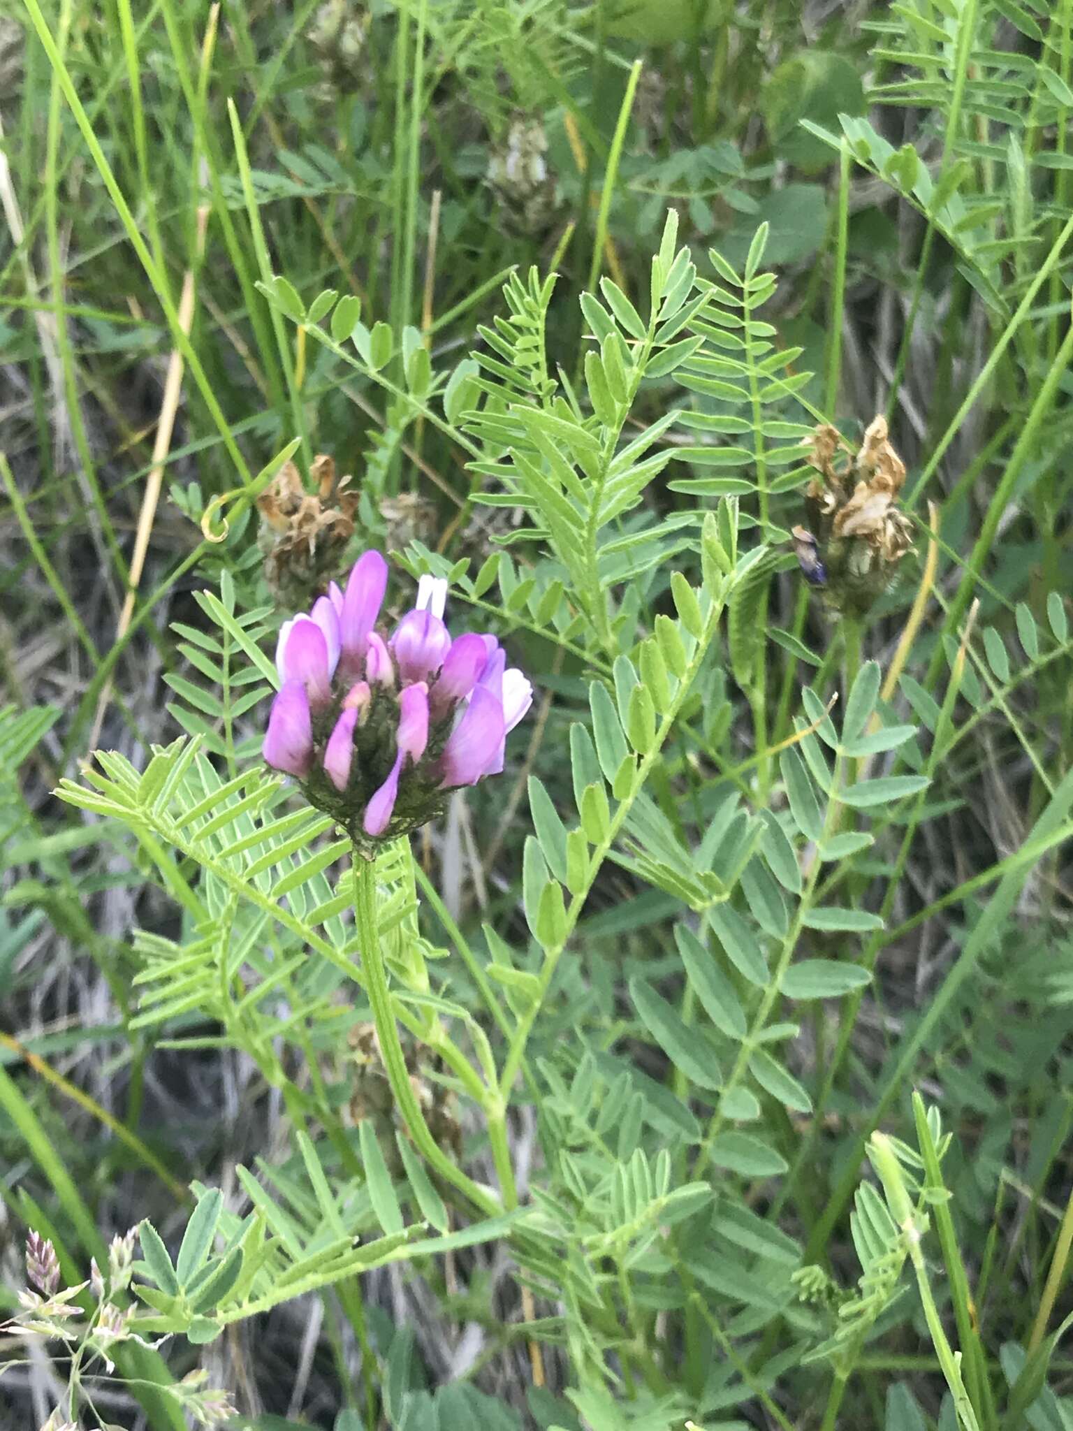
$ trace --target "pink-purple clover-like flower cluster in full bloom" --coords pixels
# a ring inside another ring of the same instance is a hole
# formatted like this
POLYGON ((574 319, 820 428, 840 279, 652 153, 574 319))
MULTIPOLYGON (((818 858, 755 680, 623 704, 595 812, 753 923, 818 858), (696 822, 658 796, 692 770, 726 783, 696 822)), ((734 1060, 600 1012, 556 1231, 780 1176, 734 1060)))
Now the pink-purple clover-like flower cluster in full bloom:
POLYGON ((494 635, 451 637, 446 585, 422 577, 415 608, 385 640, 388 562, 366 551, 345 591, 332 582, 279 633, 265 760, 359 844, 416 829, 445 791, 498 774, 506 733, 532 704, 494 635))

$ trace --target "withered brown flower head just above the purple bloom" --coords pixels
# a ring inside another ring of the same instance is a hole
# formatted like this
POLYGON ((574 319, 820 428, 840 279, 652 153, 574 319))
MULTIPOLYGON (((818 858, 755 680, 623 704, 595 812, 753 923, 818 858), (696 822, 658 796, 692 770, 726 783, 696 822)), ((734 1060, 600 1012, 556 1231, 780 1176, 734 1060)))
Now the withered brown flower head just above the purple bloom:
POLYGON ((349 488, 351 477, 336 481, 335 462, 320 455, 309 482, 312 489, 286 462, 258 498, 265 580, 286 607, 309 605, 323 591, 353 537, 358 491, 349 488))

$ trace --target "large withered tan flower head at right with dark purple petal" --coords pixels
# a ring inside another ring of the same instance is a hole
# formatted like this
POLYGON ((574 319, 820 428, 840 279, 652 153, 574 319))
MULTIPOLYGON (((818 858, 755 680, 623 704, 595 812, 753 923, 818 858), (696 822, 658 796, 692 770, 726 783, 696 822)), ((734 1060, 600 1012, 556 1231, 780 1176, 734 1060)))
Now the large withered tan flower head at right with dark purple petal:
POLYGON ((913 547, 913 525, 897 505, 906 464, 883 416, 864 434, 857 461, 836 467, 843 446, 830 424, 815 429, 810 462, 818 477, 805 489, 808 524, 794 527, 794 548, 805 578, 836 611, 863 615, 913 547))

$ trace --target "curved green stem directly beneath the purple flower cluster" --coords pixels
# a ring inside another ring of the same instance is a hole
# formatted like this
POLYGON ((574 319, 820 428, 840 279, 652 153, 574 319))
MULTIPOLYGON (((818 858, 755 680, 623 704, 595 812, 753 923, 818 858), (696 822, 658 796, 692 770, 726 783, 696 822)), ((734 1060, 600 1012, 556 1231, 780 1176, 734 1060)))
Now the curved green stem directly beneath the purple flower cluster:
POLYGON ((475 1203, 486 1216, 502 1211, 496 1198, 456 1168, 429 1132, 425 1115, 421 1112, 413 1086, 409 1080, 406 1059, 399 1042, 399 1029, 391 1006, 388 970, 383 963, 381 936, 376 927, 376 863, 353 851, 353 917, 362 950, 362 983, 369 995, 372 1017, 376 1025, 376 1039, 381 1045, 383 1066, 388 1073, 395 1103, 413 1142, 439 1176, 475 1203))

